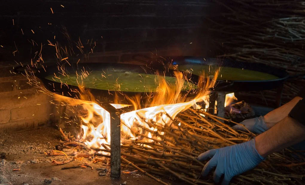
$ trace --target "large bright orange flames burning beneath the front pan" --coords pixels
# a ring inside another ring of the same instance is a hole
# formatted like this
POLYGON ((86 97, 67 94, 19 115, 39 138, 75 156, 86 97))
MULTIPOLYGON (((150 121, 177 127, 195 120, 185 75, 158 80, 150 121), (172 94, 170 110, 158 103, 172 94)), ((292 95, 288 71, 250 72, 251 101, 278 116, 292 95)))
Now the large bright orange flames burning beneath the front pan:
MULTIPOLYGON (((164 125, 170 125, 176 115, 188 109, 191 106, 196 106, 198 101, 206 101, 209 92, 207 89, 213 87, 216 82, 218 72, 215 72, 212 80, 206 80, 203 77, 199 79, 197 85, 197 93, 192 100, 186 101, 186 95, 181 94, 181 89, 184 86, 184 79, 181 72, 175 72, 177 83, 175 86, 169 85, 162 76, 158 77, 159 87, 157 93, 147 99, 146 105, 150 107, 142 108, 140 105, 140 97, 127 97, 135 107, 135 110, 126 112, 120 115, 121 120, 121 144, 126 139, 141 141, 161 141, 164 134, 159 128, 164 125), (152 133, 154 135, 152 140, 152 133)), ((81 88, 80 88, 81 89, 81 88)), ((82 92, 84 93, 84 92, 82 92)), ((107 149, 105 145, 109 145, 110 138, 110 114, 100 103, 94 101, 72 99, 61 95, 55 95, 60 101, 65 101, 69 105, 81 105, 84 115, 80 116, 81 131, 78 135, 78 140, 84 142, 88 147, 107 149)), ((81 96, 81 98, 90 96, 81 96)), ((128 105, 111 104, 115 108, 122 108, 128 105)), ((173 126, 174 127, 174 126, 173 126)), ((108 147, 108 146, 107 146, 108 147)), ((104 151, 103 151, 104 152, 104 151)))

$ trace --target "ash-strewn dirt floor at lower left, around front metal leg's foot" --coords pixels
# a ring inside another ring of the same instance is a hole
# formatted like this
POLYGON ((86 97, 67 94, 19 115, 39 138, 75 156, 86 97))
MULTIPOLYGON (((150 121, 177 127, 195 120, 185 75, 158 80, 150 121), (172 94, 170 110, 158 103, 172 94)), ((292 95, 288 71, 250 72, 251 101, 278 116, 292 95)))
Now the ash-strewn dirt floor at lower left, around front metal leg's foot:
MULTIPOLYGON (((10 134, 0 132, 0 184, 159 184, 140 172, 122 174, 120 180, 114 180, 109 175, 110 167, 101 162, 92 164, 93 170, 89 167, 62 170, 65 166, 79 165, 81 161, 52 164, 52 159, 65 159, 65 156, 45 155, 55 149, 59 139, 59 131, 52 127, 10 134), (99 176, 96 168, 107 168, 106 176, 99 176)), ((184 184, 160 179, 171 184, 184 184)))

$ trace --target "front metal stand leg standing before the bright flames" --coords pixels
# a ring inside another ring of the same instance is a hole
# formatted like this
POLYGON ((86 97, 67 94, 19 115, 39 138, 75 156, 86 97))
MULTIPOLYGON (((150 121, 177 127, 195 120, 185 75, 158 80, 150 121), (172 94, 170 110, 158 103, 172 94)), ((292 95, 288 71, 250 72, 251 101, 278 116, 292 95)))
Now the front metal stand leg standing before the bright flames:
POLYGON ((110 176, 121 176, 121 119, 120 113, 110 111, 110 176))

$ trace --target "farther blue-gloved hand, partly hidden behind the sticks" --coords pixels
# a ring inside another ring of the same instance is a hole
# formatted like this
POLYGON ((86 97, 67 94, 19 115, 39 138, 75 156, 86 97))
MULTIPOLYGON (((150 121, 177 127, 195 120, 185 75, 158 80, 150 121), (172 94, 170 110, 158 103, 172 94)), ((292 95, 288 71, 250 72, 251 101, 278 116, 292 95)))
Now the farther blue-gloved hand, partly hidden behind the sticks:
MULTIPOLYGON (((240 124, 243 124, 246 126, 246 128, 255 133, 255 134, 261 134, 264 131, 268 130, 268 127, 264 121, 264 117, 260 116, 260 117, 256 117, 256 118, 252 118, 252 119, 248 119, 248 120, 244 120, 242 121, 240 124)), ((241 130, 241 131, 247 131, 243 126, 241 125, 234 125, 233 128, 237 129, 237 130, 241 130)))

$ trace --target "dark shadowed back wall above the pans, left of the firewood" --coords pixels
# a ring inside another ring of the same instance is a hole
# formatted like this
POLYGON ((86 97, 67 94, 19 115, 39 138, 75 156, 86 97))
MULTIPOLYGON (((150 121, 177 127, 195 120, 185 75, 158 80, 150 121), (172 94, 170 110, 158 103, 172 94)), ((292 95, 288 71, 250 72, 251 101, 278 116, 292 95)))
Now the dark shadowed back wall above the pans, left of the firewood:
POLYGON ((42 56, 52 57, 54 47, 47 40, 69 46, 79 38, 84 45, 91 43, 84 47, 87 53, 95 42, 93 52, 103 62, 126 61, 135 53, 214 56, 205 18, 217 15, 216 10, 209 0, 5 0, 0 7, 0 59, 29 60, 41 43, 42 56))

